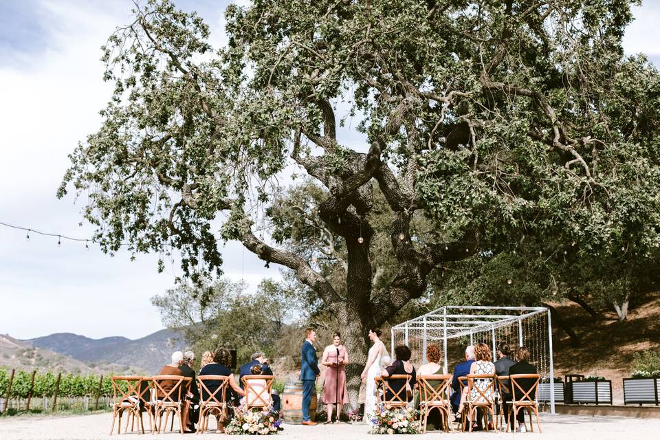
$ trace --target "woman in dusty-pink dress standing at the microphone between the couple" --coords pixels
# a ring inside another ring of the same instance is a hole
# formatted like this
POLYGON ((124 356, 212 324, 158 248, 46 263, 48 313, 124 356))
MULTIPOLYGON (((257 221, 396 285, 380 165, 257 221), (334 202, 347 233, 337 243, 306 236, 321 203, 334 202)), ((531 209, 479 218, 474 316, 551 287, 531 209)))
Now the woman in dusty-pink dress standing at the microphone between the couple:
POLYGON ((340 422, 342 406, 349 403, 349 393, 346 388, 346 365, 349 363, 349 353, 342 345, 342 337, 335 332, 332 335, 332 344, 325 347, 321 363, 328 367, 325 371, 323 384, 323 403, 331 423, 333 405, 337 405, 337 423, 340 422))

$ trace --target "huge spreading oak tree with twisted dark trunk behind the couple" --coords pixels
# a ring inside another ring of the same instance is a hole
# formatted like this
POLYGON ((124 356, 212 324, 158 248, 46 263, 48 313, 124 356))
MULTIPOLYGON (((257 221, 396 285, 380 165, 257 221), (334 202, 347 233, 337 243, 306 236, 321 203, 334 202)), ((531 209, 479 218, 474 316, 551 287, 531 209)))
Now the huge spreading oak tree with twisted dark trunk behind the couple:
POLYGON ((175 249, 196 278, 234 239, 292 270, 342 322, 355 401, 367 329, 443 263, 525 236, 549 253, 657 245, 660 83, 623 54, 630 3, 258 0, 228 7, 212 48, 197 14, 146 1, 104 47, 115 91, 60 195, 87 195, 108 252, 175 249), (353 115, 354 149, 337 135, 353 115), (316 252, 296 252, 298 217, 278 217, 293 163, 320 188, 298 207, 320 222, 316 252), (377 250, 374 197, 389 217, 377 250))

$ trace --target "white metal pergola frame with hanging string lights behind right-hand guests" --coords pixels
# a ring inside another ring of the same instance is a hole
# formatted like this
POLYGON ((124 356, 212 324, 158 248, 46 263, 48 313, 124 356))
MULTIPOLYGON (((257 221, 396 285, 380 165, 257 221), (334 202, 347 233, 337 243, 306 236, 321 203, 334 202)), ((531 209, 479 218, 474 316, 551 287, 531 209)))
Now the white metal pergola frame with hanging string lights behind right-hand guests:
MULTIPOLYGON (((391 352, 399 344, 412 351, 410 362, 426 363, 426 347, 437 344, 444 366, 449 370, 448 352, 455 353, 456 363, 467 344, 484 342, 493 353, 500 343, 522 347, 531 352, 531 364, 541 377, 554 377, 552 362, 552 325, 545 307, 444 306, 428 314, 401 322, 391 330, 391 352)), ((550 410, 555 413, 554 387, 549 387, 550 410)))

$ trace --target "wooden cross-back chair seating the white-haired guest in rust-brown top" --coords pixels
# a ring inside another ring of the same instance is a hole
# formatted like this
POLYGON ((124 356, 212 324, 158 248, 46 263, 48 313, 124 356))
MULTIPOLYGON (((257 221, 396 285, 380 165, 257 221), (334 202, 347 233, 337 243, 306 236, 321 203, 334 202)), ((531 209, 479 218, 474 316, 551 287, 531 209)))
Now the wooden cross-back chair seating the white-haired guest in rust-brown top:
MULTIPOLYGON (((184 413, 183 406, 186 404, 184 397, 188 392, 190 377, 174 376, 174 375, 159 375, 151 378, 153 381, 153 388, 156 393, 155 404, 155 421, 154 425, 157 426, 157 432, 160 433, 160 428, 163 421, 163 413, 165 413, 165 428, 167 429, 167 419, 171 413, 172 423, 174 417, 179 418, 179 431, 184 433, 184 413), (169 389, 168 389, 169 388, 169 389)), ((174 424, 172 425, 172 427, 174 424)), ((172 430, 173 428, 170 428, 172 430)))

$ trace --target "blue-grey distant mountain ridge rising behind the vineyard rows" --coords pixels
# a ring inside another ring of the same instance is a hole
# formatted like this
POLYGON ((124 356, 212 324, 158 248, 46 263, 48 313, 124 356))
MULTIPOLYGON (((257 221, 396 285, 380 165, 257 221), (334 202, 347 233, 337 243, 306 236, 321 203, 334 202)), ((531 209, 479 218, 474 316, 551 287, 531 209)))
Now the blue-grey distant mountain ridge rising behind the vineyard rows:
POLYGON ((161 330, 136 340, 120 336, 91 339, 74 333, 54 333, 23 342, 92 366, 121 364, 141 373, 155 374, 169 362, 173 351, 184 348, 182 340, 175 331, 161 330))

